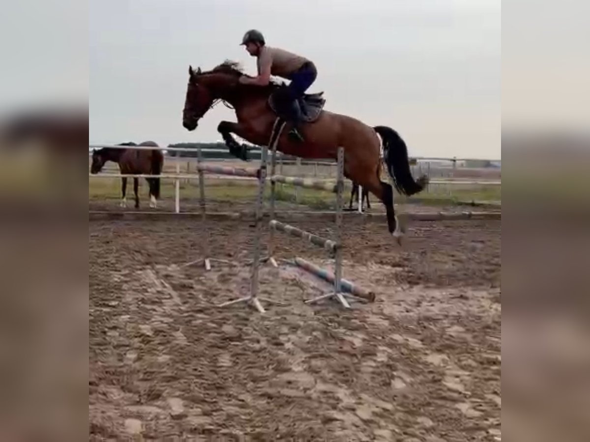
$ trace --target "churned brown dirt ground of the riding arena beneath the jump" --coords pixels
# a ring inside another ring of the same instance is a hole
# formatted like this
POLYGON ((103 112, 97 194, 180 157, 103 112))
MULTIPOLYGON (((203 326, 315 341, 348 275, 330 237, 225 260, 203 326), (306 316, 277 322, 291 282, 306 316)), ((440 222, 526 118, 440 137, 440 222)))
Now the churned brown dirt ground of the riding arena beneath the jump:
MULTIPOLYGON (((332 222, 293 222, 329 235, 332 222)), ((499 220, 345 217, 343 276, 373 304, 307 305, 329 290, 264 265, 264 315, 215 305, 248 294, 247 220, 90 220, 90 439, 499 441, 499 220)), ((277 234, 277 257, 329 265, 277 234)), ((267 236, 263 237, 267 244, 267 236)))

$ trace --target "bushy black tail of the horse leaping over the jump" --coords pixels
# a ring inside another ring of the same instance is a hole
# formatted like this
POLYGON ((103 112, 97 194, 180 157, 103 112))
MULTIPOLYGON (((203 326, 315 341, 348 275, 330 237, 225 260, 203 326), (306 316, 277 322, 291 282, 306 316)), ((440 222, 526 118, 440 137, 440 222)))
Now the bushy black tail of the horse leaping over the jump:
POLYGON ((412 171, 409 168, 408 148, 404 140, 391 127, 376 126, 373 129, 383 140, 383 159, 387 164, 387 171, 394 182, 395 189, 407 196, 421 192, 428 183, 428 177, 422 175, 418 180, 414 180, 412 177, 412 171))

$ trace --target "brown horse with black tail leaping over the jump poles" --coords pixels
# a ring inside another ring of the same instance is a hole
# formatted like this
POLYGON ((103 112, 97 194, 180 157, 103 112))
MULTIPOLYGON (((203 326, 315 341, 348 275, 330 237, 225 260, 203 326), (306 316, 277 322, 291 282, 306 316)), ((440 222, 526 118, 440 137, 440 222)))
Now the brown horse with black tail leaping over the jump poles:
MULTIPOLYGON (((277 91, 286 87, 270 83, 265 87, 241 84, 242 71, 237 63, 226 61, 211 71, 201 72, 189 67, 189 80, 183 110, 183 126, 195 130, 198 121, 219 101, 235 109, 237 123, 221 121, 217 130, 221 133, 230 152, 239 156, 240 144, 232 133, 250 143, 268 146, 277 114, 273 111, 277 91)), ((307 159, 336 159, 339 147, 344 148, 344 174, 363 186, 383 202, 387 212, 389 233, 398 242, 403 235, 394 212, 394 192, 391 184, 382 182, 380 147, 383 141, 383 156, 389 175, 399 193, 412 195, 421 192, 427 182, 422 176, 414 180, 409 167, 408 149, 404 140, 392 128, 371 127, 343 114, 323 110, 320 94, 305 95, 303 105, 307 122, 299 130, 306 140, 294 143, 283 130, 278 138, 277 149, 285 154, 307 159)))

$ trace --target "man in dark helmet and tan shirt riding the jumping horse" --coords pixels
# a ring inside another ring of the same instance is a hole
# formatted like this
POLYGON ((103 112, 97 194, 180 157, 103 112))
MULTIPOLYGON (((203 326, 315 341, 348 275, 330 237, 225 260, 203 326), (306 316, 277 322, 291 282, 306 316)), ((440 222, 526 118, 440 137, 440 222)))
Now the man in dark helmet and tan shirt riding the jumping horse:
POLYGON ((258 75, 257 77, 243 75, 240 83, 267 86, 271 75, 291 80, 289 86, 279 90, 281 96, 278 98, 282 113, 286 114, 286 119, 293 125, 289 131, 289 138, 303 142, 303 136, 298 130, 302 117, 299 99, 316 81, 316 65, 300 55, 267 46, 264 36, 257 29, 246 32, 241 44, 245 46, 248 54, 257 58, 258 75))

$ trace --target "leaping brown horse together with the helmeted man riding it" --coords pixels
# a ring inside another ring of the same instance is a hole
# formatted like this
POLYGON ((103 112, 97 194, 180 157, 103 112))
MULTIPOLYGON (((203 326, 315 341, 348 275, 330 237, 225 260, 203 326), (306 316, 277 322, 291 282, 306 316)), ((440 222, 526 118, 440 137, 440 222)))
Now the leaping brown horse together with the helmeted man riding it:
POLYGON ((248 31, 242 40, 247 51, 258 57, 257 77, 246 77, 238 64, 231 61, 209 71, 189 66, 182 125, 189 131, 195 130, 199 120, 221 101, 234 108, 237 121, 221 121, 217 130, 230 152, 242 159, 246 159, 245 153, 233 134, 258 146, 268 146, 272 134, 277 137, 278 151, 305 159, 336 160, 342 147, 345 177, 383 202, 389 232, 399 242, 405 227, 395 215, 392 185, 381 180, 381 144, 383 163, 398 193, 411 196, 421 192, 427 183, 425 176, 418 180, 412 176, 405 141, 391 127, 372 127, 358 118, 324 110, 326 100, 322 94, 305 94, 316 79, 311 61, 267 47, 258 31, 248 31), (284 86, 269 81, 273 74, 289 78, 291 83, 284 86), (283 134, 282 126, 277 125, 277 117, 284 119, 277 95, 289 100, 286 119, 294 123, 290 133, 283 134), (276 127, 279 130, 274 133, 276 127))

